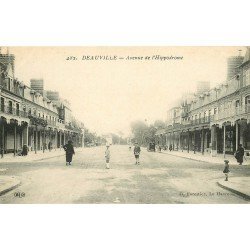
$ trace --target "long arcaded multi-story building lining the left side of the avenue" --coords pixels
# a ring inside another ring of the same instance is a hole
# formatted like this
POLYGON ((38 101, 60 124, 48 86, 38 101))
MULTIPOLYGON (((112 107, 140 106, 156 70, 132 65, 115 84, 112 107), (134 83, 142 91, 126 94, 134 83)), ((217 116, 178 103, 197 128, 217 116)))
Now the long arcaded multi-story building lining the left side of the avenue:
POLYGON ((0 62, 0 68, 2 156, 16 154, 24 144, 35 152, 47 149, 49 142, 53 148, 61 148, 67 140, 83 146, 83 125, 72 114, 61 116, 65 114, 61 103, 15 79, 11 63, 0 62))

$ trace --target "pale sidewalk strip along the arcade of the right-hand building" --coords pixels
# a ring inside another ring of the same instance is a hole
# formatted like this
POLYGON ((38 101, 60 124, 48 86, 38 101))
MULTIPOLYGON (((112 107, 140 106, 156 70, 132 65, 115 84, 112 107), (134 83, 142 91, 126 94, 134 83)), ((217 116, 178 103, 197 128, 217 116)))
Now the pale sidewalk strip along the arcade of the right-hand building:
MULTIPOLYGON (((200 152, 196 152, 194 154, 193 151, 190 151, 187 153, 186 151, 161 151, 164 154, 169 154, 169 155, 174 155, 194 161, 201 161, 201 162, 209 162, 209 163, 216 163, 216 164, 224 164, 224 160, 229 160, 229 165, 230 166, 238 166, 239 164, 237 163, 235 157, 233 155, 225 155, 225 158, 223 157, 222 154, 218 154, 217 156, 211 156, 208 153, 205 153, 202 155, 200 152)), ((244 162, 242 164, 243 166, 248 166, 250 167, 250 158, 247 158, 247 161, 244 158, 244 162)))

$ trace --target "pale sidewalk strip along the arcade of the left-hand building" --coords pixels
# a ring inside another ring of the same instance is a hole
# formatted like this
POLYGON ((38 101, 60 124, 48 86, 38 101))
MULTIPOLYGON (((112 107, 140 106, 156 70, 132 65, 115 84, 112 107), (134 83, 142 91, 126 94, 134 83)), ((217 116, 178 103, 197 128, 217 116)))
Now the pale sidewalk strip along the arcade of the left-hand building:
MULTIPOLYGON (((75 148, 75 152, 80 152, 84 148, 75 148)), ((41 161, 46 160, 50 158, 55 158, 59 156, 64 156, 65 151, 62 148, 61 150, 58 148, 56 150, 51 150, 50 152, 48 150, 43 151, 37 151, 37 154, 35 154, 34 151, 30 151, 27 156, 14 156, 13 154, 5 154, 3 158, 0 158, 0 166, 1 163, 15 163, 15 162, 32 162, 32 161, 41 161)))

